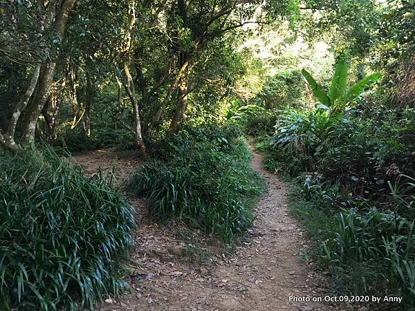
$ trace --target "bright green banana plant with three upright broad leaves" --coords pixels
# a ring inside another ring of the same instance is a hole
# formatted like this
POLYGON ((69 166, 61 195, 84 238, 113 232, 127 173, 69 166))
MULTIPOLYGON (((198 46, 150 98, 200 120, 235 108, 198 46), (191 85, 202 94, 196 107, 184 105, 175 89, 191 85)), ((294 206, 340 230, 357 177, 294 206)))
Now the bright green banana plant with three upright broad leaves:
POLYGON ((313 91, 314 96, 317 97, 317 100, 321 103, 321 105, 319 105, 320 108, 329 109, 331 111, 339 110, 341 108, 341 111, 344 112, 347 104, 355 100, 366 88, 373 86, 380 79, 380 75, 374 73, 373 75, 361 79, 347 90, 346 83, 348 70, 349 66, 347 65, 347 62, 342 60, 338 63, 335 68, 329 94, 326 94, 323 91, 322 86, 315 82, 315 79, 307 70, 302 70, 302 75, 310 85, 311 91, 313 91))

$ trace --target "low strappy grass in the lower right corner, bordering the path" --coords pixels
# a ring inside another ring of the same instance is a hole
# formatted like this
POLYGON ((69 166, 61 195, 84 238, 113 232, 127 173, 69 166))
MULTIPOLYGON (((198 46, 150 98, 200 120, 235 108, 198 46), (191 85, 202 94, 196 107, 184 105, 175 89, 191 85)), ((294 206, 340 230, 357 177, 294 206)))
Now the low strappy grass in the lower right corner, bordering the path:
MULTIPOLYGON (((401 296, 403 310, 414 304, 412 222, 376 207, 339 211, 315 198, 302 198, 301 191, 292 196, 291 213, 311 238, 308 255, 329 270, 335 290, 401 296)), ((385 303, 382 310, 393 308, 385 303)))

